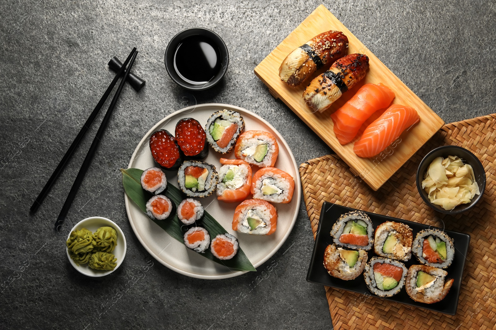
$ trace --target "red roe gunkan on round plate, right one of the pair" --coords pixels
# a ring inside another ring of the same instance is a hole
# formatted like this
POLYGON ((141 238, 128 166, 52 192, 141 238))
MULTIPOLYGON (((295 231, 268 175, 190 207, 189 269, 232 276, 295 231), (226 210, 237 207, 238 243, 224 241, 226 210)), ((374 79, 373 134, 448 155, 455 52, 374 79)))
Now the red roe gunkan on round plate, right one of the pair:
POLYGON ((196 119, 183 118, 176 124, 176 141, 186 159, 208 156, 207 136, 196 119))

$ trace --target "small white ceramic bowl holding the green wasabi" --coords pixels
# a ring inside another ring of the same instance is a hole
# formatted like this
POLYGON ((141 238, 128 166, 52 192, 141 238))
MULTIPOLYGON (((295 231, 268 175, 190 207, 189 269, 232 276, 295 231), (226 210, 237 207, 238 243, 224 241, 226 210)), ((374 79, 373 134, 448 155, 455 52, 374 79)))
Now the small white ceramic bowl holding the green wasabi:
POLYGON ((67 246, 65 246, 65 252, 67 253, 67 258, 69 259, 70 264, 72 267, 74 267, 79 273, 84 274, 86 276, 90 277, 102 277, 105 275, 109 275, 112 272, 114 272, 116 269, 121 266, 123 263, 124 257, 125 257, 125 251, 126 251, 126 242, 125 242, 125 237, 124 233, 117 226, 117 224, 107 218, 102 218, 102 217, 90 217, 86 218, 84 220, 79 221, 69 232, 69 235, 67 235, 67 239, 69 239, 70 233, 72 233, 75 230, 81 230, 82 228, 86 228, 87 230, 92 231, 93 233, 96 232, 96 230, 100 227, 112 227, 117 231, 117 246, 115 250, 112 252, 116 258, 117 258, 117 266, 114 268, 113 271, 101 271, 97 269, 92 269, 88 266, 88 264, 79 264, 76 265, 74 260, 70 258, 69 255, 69 250, 67 249, 67 246))

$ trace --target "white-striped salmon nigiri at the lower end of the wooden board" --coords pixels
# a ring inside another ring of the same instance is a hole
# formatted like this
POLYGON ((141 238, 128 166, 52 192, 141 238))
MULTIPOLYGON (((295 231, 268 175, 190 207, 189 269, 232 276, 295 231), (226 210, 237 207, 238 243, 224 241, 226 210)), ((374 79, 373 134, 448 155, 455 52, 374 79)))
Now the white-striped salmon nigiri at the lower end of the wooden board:
POLYGON ((393 104, 365 129, 360 140, 355 142, 353 151, 359 157, 373 157, 419 120, 414 108, 393 104))

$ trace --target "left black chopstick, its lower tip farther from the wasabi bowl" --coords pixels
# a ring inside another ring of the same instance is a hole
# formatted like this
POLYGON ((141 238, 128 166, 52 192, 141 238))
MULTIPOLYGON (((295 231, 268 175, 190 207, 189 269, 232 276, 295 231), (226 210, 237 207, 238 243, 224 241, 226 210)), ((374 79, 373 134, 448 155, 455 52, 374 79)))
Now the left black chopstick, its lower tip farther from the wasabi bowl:
POLYGON ((50 177, 50 179, 48 179, 47 183, 45 184, 45 187, 43 187, 43 189, 41 190, 38 197, 36 197, 33 205, 31 205, 31 208, 29 209, 29 211, 31 213, 34 213, 38 210, 41 203, 43 202, 45 197, 48 195, 48 192, 50 191, 52 186, 55 184, 57 179, 59 178, 65 165, 67 164, 70 157, 72 156, 72 154, 76 150, 76 147, 79 145, 79 142, 81 142, 81 140, 83 139, 84 135, 86 134, 86 131, 88 131, 91 123, 93 122, 93 120, 97 116, 98 112, 100 112, 100 109, 102 108, 103 104, 107 100, 107 97, 110 95, 110 93, 114 89, 114 86, 116 86, 117 81, 119 80, 121 75, 124 73, 125 67, 127 66, 127 63, 131 59, 132 54, 134 53, 135 50, 136 50, 136 47, 132 48, 132 51, 129 53, 129 56, 127 56, 127 59, 125 60, 124 64, 122 65, 121 69, 117 72, 116 76, 114 77, 114 80, 112 80, 109 87, 107 88, 107 90, 103 94, 102 98, 100 98, 100 101, 98 101, 97 105, 95 106, 95 108, 91 112, 90 116, 88 117, 88 119, 84 123, 83 127, 81 127, 81 130, 79 131, 76 138, 74 139, 74 141, 72 141, 72 144, 69 146, 69 148, 65 152, 65 155, 62 157, 62 160, 60 161, 59 165, 55 169, 54 173, 52 173, 52 176, 50 177))

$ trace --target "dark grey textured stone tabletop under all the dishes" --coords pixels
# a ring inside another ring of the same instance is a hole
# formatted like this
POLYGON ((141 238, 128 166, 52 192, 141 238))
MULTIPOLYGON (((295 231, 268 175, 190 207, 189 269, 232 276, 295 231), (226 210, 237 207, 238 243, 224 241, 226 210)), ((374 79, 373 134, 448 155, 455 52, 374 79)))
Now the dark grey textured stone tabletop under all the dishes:
MULTIPOLYGON (((194 102, 231 103, 259 114, 281 132, 299 163, 329 153, 253 74, 320 3, 0 2, 0 328, 331 327, 323 288, 305 281, 313 239, 303 203, 288 240, 257 273, 205 281, 155 262, 139 278, 152 257, 129 226, 118 172, 152 125, 194 102), (231 61, 220 85, 190 94, 169 79, 163 54, 174 34, 193 26, 216 31, 231 61), (113 55, 124 59, 133 46, 140 51, 133 70, 146 87, 136 94, 125 86, 68 221, 55 233, 54 220, 102 114, 40 210, 29 215, 29 205, 111 81, 106 63, 113 55), (123 267, 94 280, 70 266, 63 244, 72 225, 97 214, 121 226, 128 246, 123 267)), ((495 112, 494 1, 324 4, 446 122, 495 112)))

